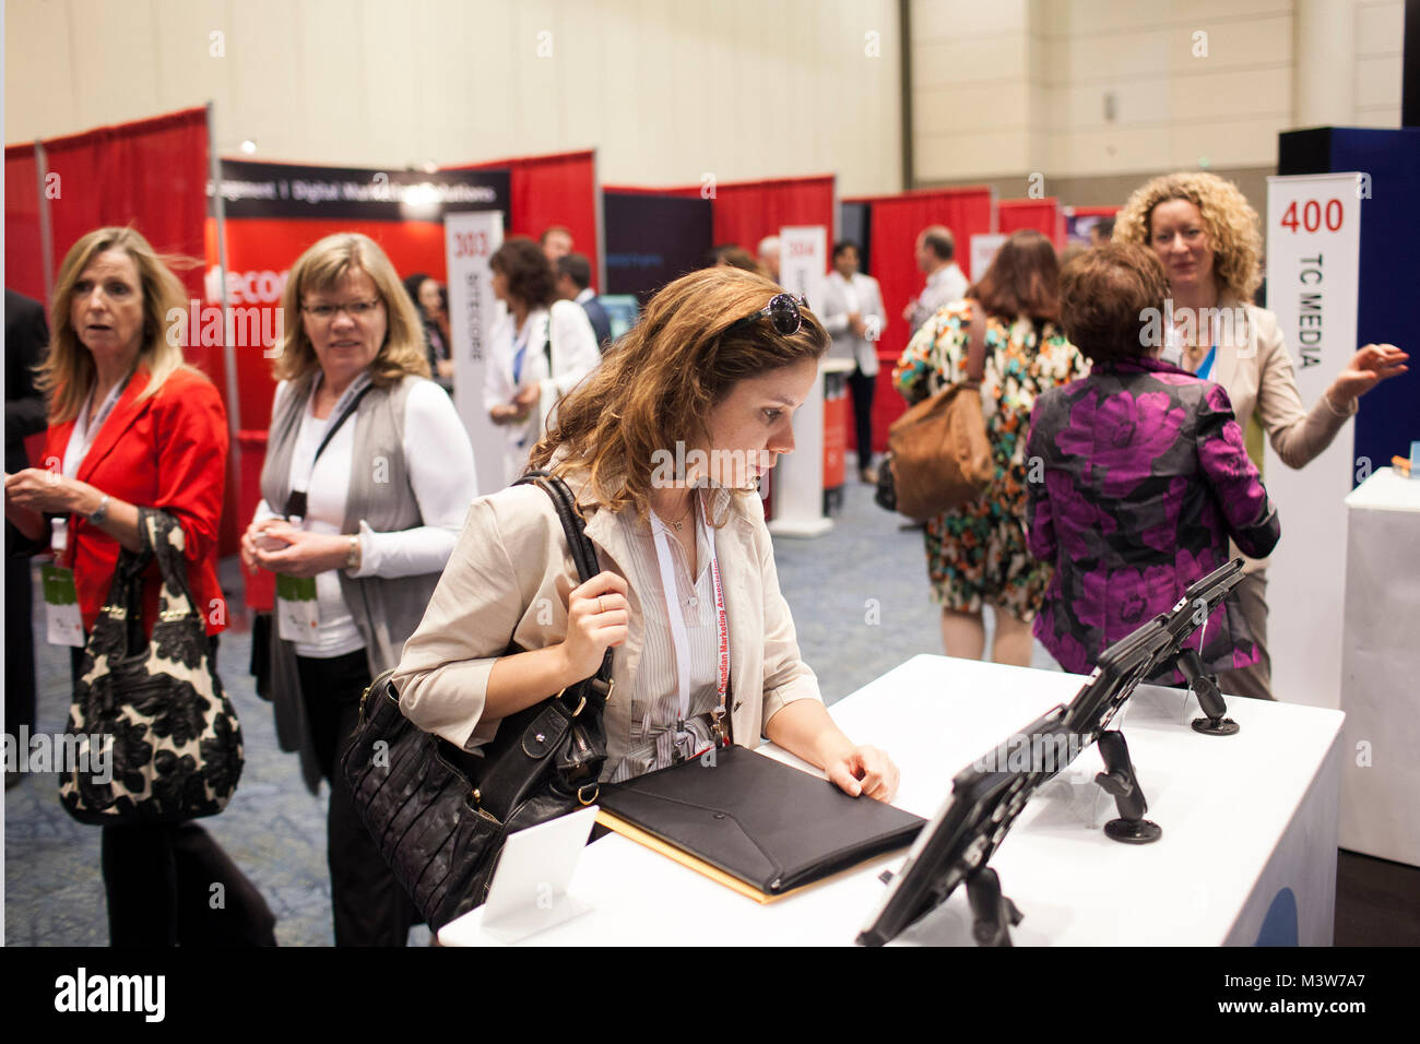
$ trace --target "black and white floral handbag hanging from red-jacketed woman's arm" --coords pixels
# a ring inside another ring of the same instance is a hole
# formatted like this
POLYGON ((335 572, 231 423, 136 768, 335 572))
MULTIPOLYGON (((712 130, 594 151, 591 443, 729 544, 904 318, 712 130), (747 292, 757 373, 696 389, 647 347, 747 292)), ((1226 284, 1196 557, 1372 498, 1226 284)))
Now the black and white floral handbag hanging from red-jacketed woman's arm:
POLYGON ((89 824, 182 822, 216 815, 241 777, 241 724, 212 665, 183 560, 182 527, 139 509, 139 553, 119 555, 108 604, 84 648, 70 706, 60 801, 89 824), (143 635, 143 572, 162 574, 158 621, 143 635))

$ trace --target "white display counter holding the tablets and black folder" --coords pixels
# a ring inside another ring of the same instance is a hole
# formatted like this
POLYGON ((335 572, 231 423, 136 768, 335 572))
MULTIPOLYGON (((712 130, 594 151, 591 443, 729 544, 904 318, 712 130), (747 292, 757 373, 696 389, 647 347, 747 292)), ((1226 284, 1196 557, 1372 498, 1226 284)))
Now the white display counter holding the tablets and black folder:
MULTIPOLYGON (((859 743, 902 768, 895 804, 930 818, 951 777, 1085 679, 1051 670, 916 656, 831 710, 859 743)), ((1342 714, 1230 700, 1231 737, 1193 732, 1186 693, 1142 687, 1120 724, 1147 817, 1163 838, 1133 847, 1100 825, 1113 801, 1092 783, 1098 749, 1042 790, 991 858, 1025 919, 1017 945, 1329 945, 1336 891, 1342 714), (1071 783, 1076 780, 1078 783, 1071 783), (1093 825, 1088 820, 1093 818, 1093 825)), ((801 764, 767 746, 772 757, 801 764)), ((883 893, 878 875, 903 852, 758 905, 622 837, 584 854, 574 895, 592 910, 530 937, 531 945, 849 945, 883 893), (693 910, 693 915, 689 913, 693 910)), ((490 943, 480 912, 446 926, 446 945, 490 943)), ((970 945, 964 889, 902 936, 970 945)))

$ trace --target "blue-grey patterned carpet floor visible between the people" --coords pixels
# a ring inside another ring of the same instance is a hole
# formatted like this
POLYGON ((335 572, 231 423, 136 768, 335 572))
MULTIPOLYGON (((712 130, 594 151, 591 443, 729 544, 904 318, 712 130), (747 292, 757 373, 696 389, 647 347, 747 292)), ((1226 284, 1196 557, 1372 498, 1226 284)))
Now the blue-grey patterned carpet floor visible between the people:
MULTIPOLYGON (((868 486, 852 483, 831 533, 775 540, 780 585, 799 648, 829 705, 910 656, 941 651, 922 534, 902 530, 900 521, 873 504, 868 486)), ((223 584, 239 588, 234 560, 223 562, 223 584)), ((247 763, 231 804, 203 825, 271 905, 281 946, 329 946, 325 791, 312 797, 295 756, 277 749, 271 706, 257 697, 247 675, 250 626, 236 601, 231 619, 222 635, 219 669, 241 717, 247 763)), ((43 638, 43 605, 36 621, 43 638)), ((68 651, 43 641, 36 646, 37 732, 54 734, 62 732, 68 712, 68 651)), ((1034 665, 1056 669, 1039 643, 1034 665)), ((419 928, 410 943, 427 937, 419 928)), ((60 808, 54 776, 31 776, 6 791, 4 939, 18 946, 108 942, 99 831, 60 808)))

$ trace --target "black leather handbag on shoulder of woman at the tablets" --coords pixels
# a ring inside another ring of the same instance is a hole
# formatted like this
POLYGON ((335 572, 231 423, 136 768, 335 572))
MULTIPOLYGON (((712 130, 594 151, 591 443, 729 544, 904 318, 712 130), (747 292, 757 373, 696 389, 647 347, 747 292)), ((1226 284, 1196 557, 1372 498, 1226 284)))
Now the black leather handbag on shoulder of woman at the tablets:
MULTIPOLYGON (((525 474, 523 483, 552 497, 578 577, 595 577, 596 551, 572 491, 545 472, 525 474)), ((477 753, 405 717, 392 673, 365 690, 341 768, 381 855, 437 932, 487 898, 508 834, 596 801, 612 652, 591 678, 503 719, 477 753)))

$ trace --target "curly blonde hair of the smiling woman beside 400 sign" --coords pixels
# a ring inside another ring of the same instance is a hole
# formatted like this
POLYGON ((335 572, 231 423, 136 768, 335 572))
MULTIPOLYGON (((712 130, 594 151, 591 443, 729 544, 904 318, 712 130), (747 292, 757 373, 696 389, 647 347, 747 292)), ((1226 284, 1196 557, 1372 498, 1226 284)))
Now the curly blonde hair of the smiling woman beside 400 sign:
POLYGON ((1203 170, 1154 178, 1135 190, 1115 216, 1115 241, 1150 247, 1153 209, 1170 199, 1184 199, 1203 214, 1203 230, 1213 247, 1213 278, 1224 295, 1251 301, 1262 283, 1262 223, 1238 186, 1203 170))

